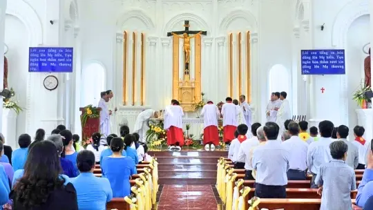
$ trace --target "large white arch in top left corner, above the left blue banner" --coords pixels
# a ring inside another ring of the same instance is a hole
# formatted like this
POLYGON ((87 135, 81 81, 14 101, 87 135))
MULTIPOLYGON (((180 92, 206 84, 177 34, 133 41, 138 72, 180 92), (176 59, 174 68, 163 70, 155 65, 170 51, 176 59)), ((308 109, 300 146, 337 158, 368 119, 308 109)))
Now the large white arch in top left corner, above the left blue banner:
POLYGON ((43 44, 43 26, 37 13, 28 3, 22 0, 8 0, 6 14, 19 18, 30 32, 30 44, 43 44))

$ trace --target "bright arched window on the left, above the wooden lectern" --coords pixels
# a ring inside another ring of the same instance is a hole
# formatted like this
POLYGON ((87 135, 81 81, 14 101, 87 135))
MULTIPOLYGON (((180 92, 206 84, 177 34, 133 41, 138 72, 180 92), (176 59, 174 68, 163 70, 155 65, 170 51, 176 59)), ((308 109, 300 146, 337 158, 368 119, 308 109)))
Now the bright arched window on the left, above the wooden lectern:
POLYGON ((105 90, 105 68, 102 64, 88 64, 82 72, 82 106, 97 106, 102 91, 105 90))

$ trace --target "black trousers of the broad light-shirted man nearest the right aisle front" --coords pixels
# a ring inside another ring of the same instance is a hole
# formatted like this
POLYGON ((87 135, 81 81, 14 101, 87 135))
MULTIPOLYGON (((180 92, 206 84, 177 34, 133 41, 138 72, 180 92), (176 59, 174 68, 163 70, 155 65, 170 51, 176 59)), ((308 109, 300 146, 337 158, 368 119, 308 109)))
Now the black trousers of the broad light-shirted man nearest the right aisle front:
POLYGON ((274 186, 255 183, 255 196, 259 198, 286 198, 286 185, 274 186))

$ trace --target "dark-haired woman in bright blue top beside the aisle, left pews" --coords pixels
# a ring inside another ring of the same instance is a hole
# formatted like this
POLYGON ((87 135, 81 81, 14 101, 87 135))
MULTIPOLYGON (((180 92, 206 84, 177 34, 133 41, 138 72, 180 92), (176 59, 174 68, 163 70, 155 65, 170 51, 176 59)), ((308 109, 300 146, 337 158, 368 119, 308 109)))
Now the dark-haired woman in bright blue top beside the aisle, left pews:
POLYGON ((133 160, 122 156, 123 149, 126 148, 122 138, 113 137, 110 144, 113 155, 102 159, 102 176, 108 178, 114 198, 124 198, 131 193, 129 180, 131 175, 137 173, 133 160))

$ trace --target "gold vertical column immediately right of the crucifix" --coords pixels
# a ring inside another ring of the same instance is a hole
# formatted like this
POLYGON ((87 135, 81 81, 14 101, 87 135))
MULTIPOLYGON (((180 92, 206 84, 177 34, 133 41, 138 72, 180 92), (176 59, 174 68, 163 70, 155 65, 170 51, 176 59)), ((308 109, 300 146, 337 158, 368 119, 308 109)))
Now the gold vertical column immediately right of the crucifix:
POLYGON ((201 100, 201 35, 195 36, 194 39, 194 86, 195 86, 195 99, 197 102, 201 100))

